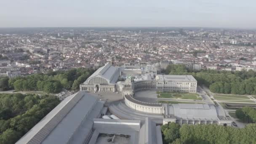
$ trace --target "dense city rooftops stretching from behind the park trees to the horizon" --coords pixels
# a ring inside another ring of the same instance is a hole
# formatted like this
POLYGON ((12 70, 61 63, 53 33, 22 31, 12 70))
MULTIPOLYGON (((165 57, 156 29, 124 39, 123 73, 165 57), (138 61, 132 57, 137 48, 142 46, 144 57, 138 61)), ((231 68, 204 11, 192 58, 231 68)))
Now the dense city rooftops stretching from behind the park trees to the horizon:
POLYGON ((111 61, 145 65, 185 64, 189 70, 248 71, 256 66, 256 31, 183 28, 30 29, 1 34, 1 75, 69 68, 97 69, 111 61), (33 31, 34 30, 34 31, 33 31), (11 72, 10 72, 11 71, 11 72))

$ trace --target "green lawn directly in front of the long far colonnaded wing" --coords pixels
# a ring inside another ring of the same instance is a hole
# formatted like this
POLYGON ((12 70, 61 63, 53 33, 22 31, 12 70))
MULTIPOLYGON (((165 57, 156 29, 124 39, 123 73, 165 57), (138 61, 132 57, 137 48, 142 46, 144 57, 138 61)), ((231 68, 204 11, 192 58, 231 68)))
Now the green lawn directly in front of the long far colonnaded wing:
POLYGON ((194 99, 202 100, 197 94, 184 94, 184 93, 160 93, 157 97, 169 99, 194 99))

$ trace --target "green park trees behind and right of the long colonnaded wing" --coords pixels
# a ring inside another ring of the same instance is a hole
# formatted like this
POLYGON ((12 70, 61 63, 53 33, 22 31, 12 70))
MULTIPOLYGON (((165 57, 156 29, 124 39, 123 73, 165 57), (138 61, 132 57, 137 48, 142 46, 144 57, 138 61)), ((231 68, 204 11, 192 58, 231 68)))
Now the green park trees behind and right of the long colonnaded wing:
POLYGON ((188 72, 184 64, 170 64, 165 74, 193 75, 199 85, 209 87, 213 93, 256 94, 256 72, 253 70, 188 72))

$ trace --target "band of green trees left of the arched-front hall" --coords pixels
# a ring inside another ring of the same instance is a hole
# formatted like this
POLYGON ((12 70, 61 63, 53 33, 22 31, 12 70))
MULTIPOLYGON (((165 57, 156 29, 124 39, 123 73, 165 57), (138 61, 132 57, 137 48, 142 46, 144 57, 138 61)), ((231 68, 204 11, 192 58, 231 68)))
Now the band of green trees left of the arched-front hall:
POLYGON ((93 70, 91 69, 77 68, 11 79, 3 77, 0 79, 0 90, 14 89, 16 91, 44 91, 46 93, 59 93, 62 88, 77 90, 80 83, 83 83, 92 73, 93 70))

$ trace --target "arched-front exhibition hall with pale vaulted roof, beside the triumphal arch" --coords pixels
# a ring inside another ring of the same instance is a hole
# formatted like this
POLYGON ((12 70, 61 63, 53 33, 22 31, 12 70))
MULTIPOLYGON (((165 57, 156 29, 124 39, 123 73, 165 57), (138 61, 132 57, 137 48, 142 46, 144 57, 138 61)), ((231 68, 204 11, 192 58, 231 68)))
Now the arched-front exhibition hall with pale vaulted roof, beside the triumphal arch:
POLYGON ((119 77, 117 67, 110 63, 96 70, 84 83, 80 84, 81 91, 112 91, 119 77))

